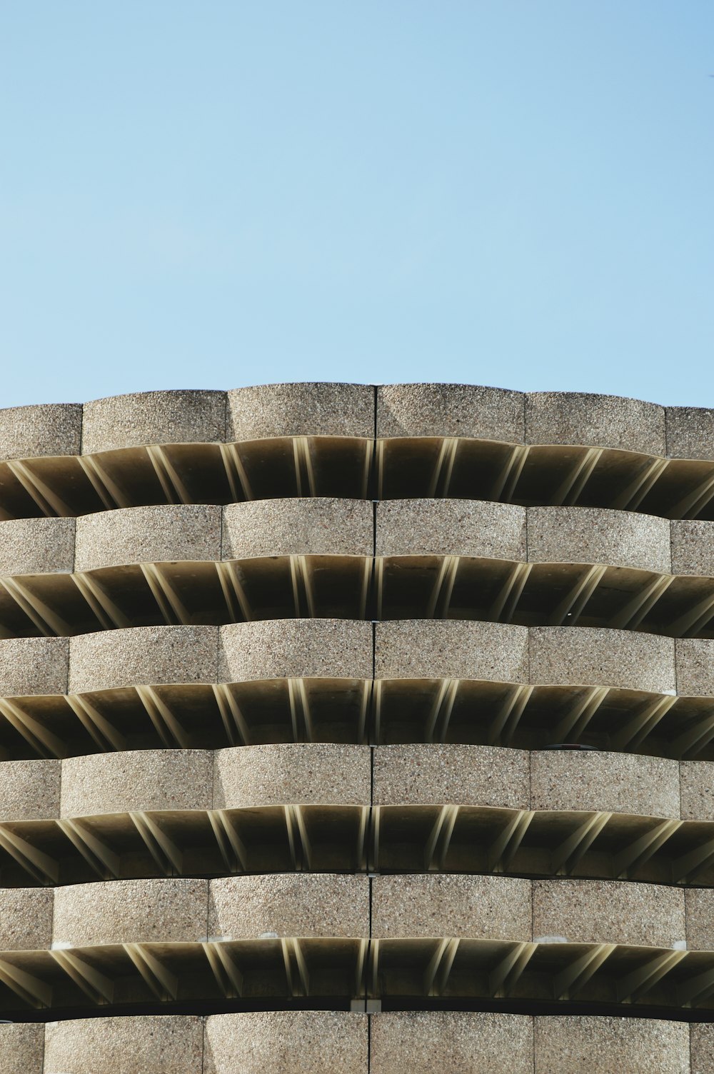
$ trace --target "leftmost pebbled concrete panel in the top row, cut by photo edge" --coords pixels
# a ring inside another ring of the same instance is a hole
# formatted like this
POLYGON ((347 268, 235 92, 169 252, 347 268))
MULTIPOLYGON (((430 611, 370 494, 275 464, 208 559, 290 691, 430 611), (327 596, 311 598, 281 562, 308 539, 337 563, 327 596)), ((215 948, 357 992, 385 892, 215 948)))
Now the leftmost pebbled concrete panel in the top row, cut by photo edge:
POLYGON ((41 403, 0 410, 0 459, 77 455, 81 445, 81 403, 41 403))

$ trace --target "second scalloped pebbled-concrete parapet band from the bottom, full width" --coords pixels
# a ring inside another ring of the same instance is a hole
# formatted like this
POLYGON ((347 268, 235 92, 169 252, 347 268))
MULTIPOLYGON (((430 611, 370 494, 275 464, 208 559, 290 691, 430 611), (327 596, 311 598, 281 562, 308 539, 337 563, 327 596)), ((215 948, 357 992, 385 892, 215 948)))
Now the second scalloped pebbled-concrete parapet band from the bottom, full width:
POLYGON ((711 888, 565 876, 387 874, 373 879, 371 903, 365 874, 113 880, 0 889, 0 952, 195 943, 206 935, 214 942, 446 935, 711 952, 713 900, 711 888))

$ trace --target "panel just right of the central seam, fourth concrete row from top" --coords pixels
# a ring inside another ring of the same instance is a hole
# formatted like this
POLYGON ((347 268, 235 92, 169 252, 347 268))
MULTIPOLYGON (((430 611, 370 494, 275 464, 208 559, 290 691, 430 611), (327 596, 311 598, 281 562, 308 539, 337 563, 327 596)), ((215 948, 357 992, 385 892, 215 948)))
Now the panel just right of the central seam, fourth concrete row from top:
POLYGON ((382 745, 375 806, 454 804, 528 809, 528 754, 489 745, 382 745))

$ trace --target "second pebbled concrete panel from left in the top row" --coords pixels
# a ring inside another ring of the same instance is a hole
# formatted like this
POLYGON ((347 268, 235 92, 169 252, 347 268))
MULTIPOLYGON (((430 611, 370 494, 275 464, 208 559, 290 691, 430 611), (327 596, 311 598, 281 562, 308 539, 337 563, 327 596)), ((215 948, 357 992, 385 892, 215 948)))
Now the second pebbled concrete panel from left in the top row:
POLYGON ((165 391, 85 403, 82 450, 205 444, 225 435, 225 392, 165 391))

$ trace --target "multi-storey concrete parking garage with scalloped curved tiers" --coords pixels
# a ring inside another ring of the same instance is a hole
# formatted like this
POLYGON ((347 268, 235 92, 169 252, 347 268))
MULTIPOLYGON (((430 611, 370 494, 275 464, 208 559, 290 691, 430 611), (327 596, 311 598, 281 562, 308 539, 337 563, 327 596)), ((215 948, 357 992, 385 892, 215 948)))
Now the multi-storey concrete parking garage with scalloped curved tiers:
POLYGON ((157 392, 0 456, 2 1074, 714 1072, 714 411, 157 392))

